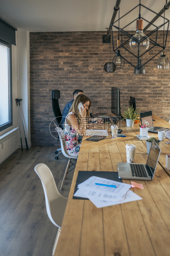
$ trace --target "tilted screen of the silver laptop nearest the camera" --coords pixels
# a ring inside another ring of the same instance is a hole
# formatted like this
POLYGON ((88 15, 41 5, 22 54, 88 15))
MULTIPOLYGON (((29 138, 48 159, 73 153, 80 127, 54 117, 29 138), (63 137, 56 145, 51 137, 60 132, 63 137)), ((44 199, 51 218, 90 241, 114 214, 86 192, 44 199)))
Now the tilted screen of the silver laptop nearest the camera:
POLYGON ((146 165, 150 166, 152 175, 155 171, 156 165, 158 163, 159 154, 161 152, 161 149, 158 147, 156 142, 153 140, 151 150, 149 152, 149 156, 146 162, 146 165))

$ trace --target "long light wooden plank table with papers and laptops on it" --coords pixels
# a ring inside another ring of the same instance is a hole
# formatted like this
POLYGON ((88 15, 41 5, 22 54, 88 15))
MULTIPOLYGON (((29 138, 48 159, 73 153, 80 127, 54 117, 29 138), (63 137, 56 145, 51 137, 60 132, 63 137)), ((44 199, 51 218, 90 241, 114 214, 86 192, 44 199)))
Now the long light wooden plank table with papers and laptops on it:
MULTIPOLYGON (((170 127, 153 118, 154 126, 170 127)), ((145 142, 136 137, 139 123, 128 128, 123 122, 122 133, 127 137, 99 142, 83 139, 55 256, 170 255, 170 177, 161 164, 153 180, 137 181, 144 190, 131 188, 143 200, 97 209, 89 200, 73 199, 78 171, 117 171, 117 163, 126 162, 125 144, 137 146, 135 162, 146 162, 145 142)), ((163 164, 170 145, 165 141, 160 144, 163 164)), ((130 180, 123 182, 130 184, 130 180)))

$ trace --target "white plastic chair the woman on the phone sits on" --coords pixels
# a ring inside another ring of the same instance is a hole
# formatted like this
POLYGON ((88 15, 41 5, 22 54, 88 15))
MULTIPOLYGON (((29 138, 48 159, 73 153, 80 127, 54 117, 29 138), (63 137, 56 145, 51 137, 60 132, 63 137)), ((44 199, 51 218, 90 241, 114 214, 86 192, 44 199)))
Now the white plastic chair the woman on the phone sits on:
POLYGON ((64 173, 64 177, 63 177, 61 187, 60 187, 60 190, 62 190, 63 185, 64 185, 64 181, 65 181, 66 176, 67 176, 67 173, 72 171, 76 166, 76 161, 77 161, 77 158, 78 158, 78 154, 74 154, 74 156, 73 156, 73 154, 69 154, 69 152, 67 152, 67 150, 64 149, 64 141, 65 141, 64 131, 60 127, 56 127, 55 130, 57 130, 57 132, 59 134, 59 139, 60 139, 60 142, 61 142, 61 151, 64 154, 64 156, 69 158, 68 164, 67 164, 67 167, 66 167, 66 171, 64 173), (72 159, 75 161, 74 163, 71 161, 72 159), (68 168, 71 167, 71 166, 74 166, 74 167, 71 170, 68 171, 68 168))

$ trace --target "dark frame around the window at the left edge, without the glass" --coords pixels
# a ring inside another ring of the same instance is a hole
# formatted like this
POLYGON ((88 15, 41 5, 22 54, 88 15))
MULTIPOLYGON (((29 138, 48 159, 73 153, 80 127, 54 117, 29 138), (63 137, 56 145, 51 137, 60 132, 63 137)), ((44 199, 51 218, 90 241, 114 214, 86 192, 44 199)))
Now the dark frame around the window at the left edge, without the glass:
POLYGON ((9 121, 0 125, 0 132, 12 126, 12 44, 0 39, 0 44, 8 47, 9 54, 9 121))

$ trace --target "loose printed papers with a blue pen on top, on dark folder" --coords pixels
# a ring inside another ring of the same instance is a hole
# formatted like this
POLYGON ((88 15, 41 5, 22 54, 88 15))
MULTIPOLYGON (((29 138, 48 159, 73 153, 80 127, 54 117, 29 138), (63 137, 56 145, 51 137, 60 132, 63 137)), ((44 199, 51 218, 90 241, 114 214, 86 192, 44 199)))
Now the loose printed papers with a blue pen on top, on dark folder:
POLYGON ((88 198, 97 208, 141 200, 141 197, 129 190, 130 187, 130 184, 92 176, 78 185, 74 196, 88 198))

